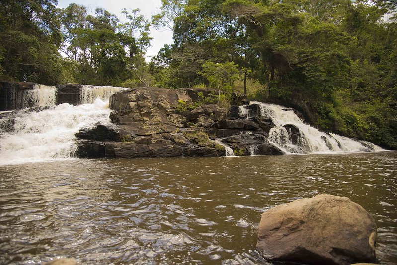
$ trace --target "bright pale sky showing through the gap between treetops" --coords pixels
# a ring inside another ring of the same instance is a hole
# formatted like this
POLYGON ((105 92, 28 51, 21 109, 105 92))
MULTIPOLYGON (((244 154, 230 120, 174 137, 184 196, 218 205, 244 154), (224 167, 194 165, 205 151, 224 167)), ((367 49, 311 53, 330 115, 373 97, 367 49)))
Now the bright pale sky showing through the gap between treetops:
MULTIPOLYGON (((123 8, 127 10, 139 8, 141 9, 140 14, 150 21, 152 15, 159 13, 161 7, 161 0, 58 0, 58 7, 65 8, 70 3, 82 4, 87 7, 88 12, 92 13, 95 12, 96 7, 102 7, 115 14, 122 22, 126 22, 125 16, 121 13, 123 8)), ((148 59, 150 56, 156 55, 164 44, 172 44, 173 42, 171 30, 151 28, 150 37, 153 40, 151 41, 152 46, 146 52, 148 59)))

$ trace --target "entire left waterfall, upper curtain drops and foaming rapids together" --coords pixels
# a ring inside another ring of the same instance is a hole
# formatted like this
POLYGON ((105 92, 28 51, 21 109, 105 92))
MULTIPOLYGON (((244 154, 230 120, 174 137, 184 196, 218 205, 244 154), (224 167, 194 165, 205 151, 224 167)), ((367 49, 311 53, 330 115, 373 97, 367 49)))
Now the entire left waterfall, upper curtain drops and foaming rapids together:
POLYGON ((81 105, 55 105, 56 89, 37 85, 21 102, 47 109, 0 113, 0 165, 69 159, 77 150, 75 133, 95 124, 110 124, 111 94, 119 87, 83 86, 81 105), (34 104, 31 104, 34 103, 34 104))

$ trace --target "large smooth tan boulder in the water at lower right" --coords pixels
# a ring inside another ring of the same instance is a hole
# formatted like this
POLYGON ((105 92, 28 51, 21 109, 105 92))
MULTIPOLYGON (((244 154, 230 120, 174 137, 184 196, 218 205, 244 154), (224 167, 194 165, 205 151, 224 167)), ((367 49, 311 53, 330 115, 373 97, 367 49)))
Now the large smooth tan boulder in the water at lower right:
POLYGON ((318 265, 375 261, 376 225, 347 197, 317 195, 262 214, 256 249, 267 260, 318 265))

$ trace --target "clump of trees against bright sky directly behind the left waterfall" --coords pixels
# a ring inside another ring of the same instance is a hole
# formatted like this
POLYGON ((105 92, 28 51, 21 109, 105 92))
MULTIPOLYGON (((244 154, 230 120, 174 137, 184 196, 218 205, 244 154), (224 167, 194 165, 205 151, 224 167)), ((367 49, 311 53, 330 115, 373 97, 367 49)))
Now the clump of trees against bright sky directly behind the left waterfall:
POLYGON ((149 22, 139 11, 123 9, 128 22, 121 23, 102 8, 96 8, 93 15, 75 3, 61 10, 63 52, 79 64, 73 76, 76 82, 150 85, 152 78, 144 59, 151 41, 149 22))

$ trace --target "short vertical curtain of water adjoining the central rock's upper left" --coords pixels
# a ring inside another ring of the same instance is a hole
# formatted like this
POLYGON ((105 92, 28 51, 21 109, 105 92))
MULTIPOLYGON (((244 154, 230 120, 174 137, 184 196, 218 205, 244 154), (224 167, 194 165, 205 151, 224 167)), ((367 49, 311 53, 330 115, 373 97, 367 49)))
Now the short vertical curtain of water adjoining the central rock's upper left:
POLYGON ((114 86, 82 85, 80 92, 80 102, 81 104, 92 104, 97 98, 105 100, 108 99, 110 95, 122 90, 128 90, 128 88, 114 86))

